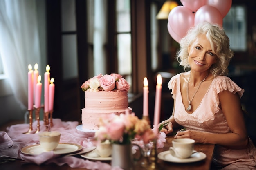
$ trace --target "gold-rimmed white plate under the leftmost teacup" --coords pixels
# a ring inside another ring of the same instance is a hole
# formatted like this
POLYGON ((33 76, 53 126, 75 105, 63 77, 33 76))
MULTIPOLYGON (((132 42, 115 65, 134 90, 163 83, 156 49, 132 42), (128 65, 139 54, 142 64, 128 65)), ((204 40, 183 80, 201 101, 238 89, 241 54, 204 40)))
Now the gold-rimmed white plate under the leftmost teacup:
MULTIPOLYGON (((82 149, 81 145, 77 145, 74 143, 59 143, 57 148, 53 150, 53 152, 54 154, 68 154, 68 153, 76 152, 81 149, 82 149)), ((43 152, 50 152, 50 151, 46 151, 40 144, 37 144, 37 145, 26 146, 21 149, 21 152, 24 154, 37 155, 43 152)))

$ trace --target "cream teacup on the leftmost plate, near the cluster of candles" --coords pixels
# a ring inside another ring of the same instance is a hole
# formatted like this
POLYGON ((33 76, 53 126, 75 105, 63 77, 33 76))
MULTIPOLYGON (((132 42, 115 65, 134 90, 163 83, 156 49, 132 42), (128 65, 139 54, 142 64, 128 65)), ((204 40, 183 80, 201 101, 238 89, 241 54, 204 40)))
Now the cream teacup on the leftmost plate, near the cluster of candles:
POLYGON ((61 139, 60 132, 41 132, 39 134, 40 145, 46 150, 51 151, 57 148, 61 139))

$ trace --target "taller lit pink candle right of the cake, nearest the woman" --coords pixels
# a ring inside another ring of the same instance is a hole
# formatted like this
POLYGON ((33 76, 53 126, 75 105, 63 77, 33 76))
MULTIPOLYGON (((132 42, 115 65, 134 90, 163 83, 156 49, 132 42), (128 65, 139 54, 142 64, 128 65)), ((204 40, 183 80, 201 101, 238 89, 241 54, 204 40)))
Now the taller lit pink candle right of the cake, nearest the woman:
POLYGON ((155 89, 155 112, 154 112, 154 125, 155 133, 158 134, 158 124, 160 123, 160 111, 161 111, 161 92, 162 92, 162 77, 157 75, 157 86, 155 89))

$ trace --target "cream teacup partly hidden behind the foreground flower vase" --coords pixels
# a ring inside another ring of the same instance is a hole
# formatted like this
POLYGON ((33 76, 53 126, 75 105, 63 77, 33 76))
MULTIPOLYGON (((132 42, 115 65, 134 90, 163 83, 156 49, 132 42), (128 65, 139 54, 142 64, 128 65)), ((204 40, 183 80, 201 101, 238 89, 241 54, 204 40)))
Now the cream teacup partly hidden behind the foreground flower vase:
POLYGON ((108 140, 98 143, 96 152, 101 157, 109 157, 112 154, 112 143, 108 140))

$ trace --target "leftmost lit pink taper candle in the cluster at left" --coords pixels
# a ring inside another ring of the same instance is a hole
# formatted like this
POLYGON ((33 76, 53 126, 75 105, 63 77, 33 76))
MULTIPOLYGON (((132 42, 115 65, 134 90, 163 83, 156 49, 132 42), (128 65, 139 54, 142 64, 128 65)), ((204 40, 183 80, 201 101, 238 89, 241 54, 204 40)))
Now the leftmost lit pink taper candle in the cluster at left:
POLYGON ((33 70, 32 65, 29 64, 28 76, 28 110, 33 109, 33 70))

